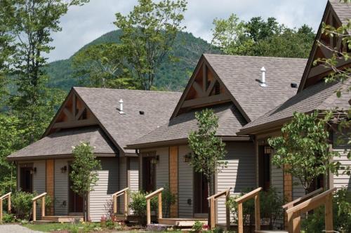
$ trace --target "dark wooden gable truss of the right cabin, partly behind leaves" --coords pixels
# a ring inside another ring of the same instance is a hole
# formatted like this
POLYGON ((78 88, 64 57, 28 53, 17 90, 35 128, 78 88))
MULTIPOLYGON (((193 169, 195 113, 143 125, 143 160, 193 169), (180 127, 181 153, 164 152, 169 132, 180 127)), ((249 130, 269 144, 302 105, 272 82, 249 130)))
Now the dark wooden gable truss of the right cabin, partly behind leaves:
MULTIPOLYGON (((340 19, 338 18, 338 15, 335 13, 330 4, 328 4, 326 7, 322 22, 326 23, 326 25, 332 25, 336 28, 342 25, 340 19)), ((326 36, 325 34, 322 34, 321 24, 317 33, 317 39, 314 41, 314 45, 307 63, 305 74, 303 75, 303 81, 301 82, 302 85, 300 85, 299 91, 315 84, 317 81, 324 78, 329 74, 329 72, 331 72, 331 69, 329 67, 325 67, 320 63, 313 65, 314 60, 317 60, 317 58, 331 58, 333 52, 329 48, 333 48, 339 52, 350 52, 348 51, 347 46, 343 46, 342 39, 336 36, 326 36), (317 41, 319 41, 320 45, 317 43, 317 41)), ((349 65, 350 61, 346 61, 343 58, 340 58, 336 67, 346 67, 349 65)))

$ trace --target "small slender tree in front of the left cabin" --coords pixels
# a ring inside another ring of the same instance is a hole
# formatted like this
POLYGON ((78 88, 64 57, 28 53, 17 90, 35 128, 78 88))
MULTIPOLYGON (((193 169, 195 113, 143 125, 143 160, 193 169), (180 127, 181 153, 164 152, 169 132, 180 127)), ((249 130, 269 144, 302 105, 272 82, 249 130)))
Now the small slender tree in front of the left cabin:
POLYGON ((88 193, 93 191, 93 186, 98 182, 98 170, 101 169, 100 160, 96 159, 93 149, 88 142, 81 142, 74 147, 72 171, 69 173, 69 178, 72 179, 71 189, 83 197, 85 221, 88 213, 88 193))

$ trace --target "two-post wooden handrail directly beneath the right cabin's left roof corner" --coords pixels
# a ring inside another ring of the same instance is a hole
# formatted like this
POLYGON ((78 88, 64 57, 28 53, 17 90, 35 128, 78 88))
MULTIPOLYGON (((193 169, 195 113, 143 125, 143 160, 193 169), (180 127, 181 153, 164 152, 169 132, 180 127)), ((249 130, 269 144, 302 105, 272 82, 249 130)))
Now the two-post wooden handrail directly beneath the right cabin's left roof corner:
POLYGON ((255 199, 255 230, 260 230, 260 191, 262 187, 258 187, 257 189, 245 194, 242 197, 235 199, 238 204, 238 232, 244 232, 244 221, 243 221, 243 208, 242 204, 244 201, 248 201, 249 199, 255 199))

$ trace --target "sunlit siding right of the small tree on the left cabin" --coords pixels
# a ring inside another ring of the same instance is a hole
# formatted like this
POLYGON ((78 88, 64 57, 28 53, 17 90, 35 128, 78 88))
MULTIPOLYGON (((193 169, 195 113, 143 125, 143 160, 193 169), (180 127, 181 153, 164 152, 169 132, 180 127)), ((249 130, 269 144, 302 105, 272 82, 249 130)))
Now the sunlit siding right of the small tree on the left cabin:
POLYGON ((91 221, 98 222, 102 215, 107 215, 105 204, 112 200, 112 194, 118 191, 118 159, 103 158, 101 161, 101 170, 98 171, 98 182, 89 194, 89 214, 91 221))

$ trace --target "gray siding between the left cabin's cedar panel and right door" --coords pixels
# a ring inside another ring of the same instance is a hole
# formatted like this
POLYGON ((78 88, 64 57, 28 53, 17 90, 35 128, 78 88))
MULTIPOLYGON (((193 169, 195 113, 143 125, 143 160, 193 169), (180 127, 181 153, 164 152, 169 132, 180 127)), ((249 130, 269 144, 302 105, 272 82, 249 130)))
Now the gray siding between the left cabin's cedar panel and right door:
POLYGON ((68 214, 68 171, 61 172, 61 168, 67 166, 67 159, 55 159, 55 215, 68 214))

